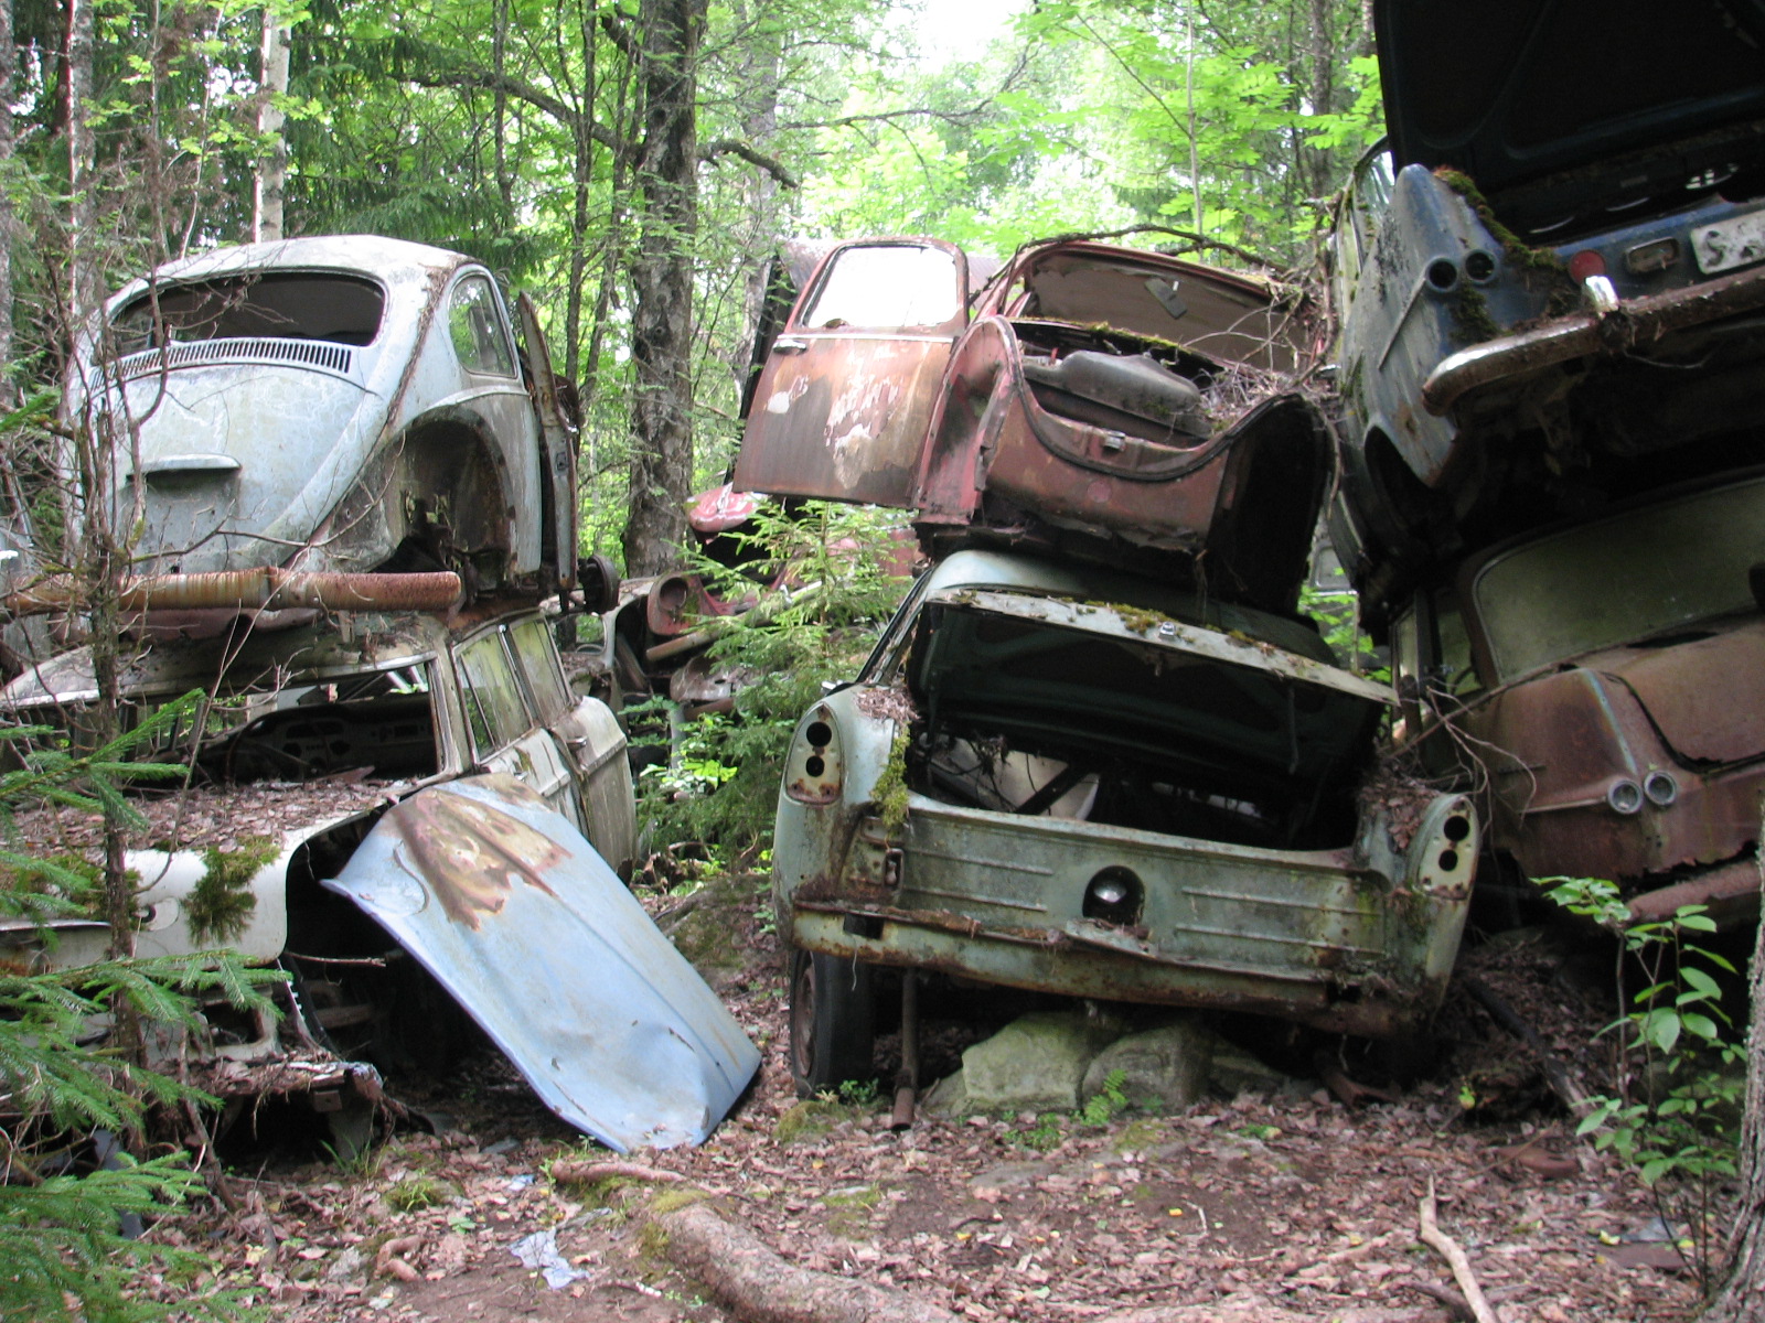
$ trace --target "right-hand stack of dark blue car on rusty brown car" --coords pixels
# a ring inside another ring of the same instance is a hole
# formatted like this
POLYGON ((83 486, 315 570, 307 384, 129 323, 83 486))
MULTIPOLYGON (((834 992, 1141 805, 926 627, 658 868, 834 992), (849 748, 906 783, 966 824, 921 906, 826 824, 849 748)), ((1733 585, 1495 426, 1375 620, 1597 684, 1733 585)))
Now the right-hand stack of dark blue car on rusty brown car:
POLYGON ((1765 16, 1375 9, 1331 534, 1520 873, 1758 914, 1765 16), (1615 71, 1624 71, 1622 76, 1615 71), (1393 169, 1394 168, 1394 169, 1393 169))

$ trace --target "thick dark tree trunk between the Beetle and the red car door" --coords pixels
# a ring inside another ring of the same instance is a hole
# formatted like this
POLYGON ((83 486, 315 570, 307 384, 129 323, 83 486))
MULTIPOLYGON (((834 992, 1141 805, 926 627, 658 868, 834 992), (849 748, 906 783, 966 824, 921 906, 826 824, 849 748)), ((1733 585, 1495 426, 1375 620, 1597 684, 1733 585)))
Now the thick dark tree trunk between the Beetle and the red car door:
POLYGON ((692 247, 697 235, 694 64, 706 0, 642 0, 644 196, 632 266, 632 513, 625 573, 669 568, 692 496, 692 247))

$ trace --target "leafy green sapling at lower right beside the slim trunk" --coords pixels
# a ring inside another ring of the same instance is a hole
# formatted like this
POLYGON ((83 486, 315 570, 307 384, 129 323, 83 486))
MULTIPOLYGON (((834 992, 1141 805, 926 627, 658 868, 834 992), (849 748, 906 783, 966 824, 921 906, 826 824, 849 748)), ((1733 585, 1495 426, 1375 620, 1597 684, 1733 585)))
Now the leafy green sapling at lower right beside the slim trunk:
POLYGON ((1668 1226, 1691 1222, 1691 1267, 1709 1293, 1716 1245, 1712 1205, 1737 1171, 1746 1094, 1746 1051, 1723 1009, 1717 972, 1724 956, 1696 942, 1714 933, 1703 905, 1680 905, 1670 919, 1636 923, 1603 878, 1553 877, 1550 898, 1620 938, 1617 993, 1624 1013, 1603 1034, 1619 1037, 1615 1092, 1590 1099, 1576 1127, 1594 1147, 1633 1164, 1654 1192, 1668 1226), (1643 986, 1626 993, 1626 974, 1643 986))

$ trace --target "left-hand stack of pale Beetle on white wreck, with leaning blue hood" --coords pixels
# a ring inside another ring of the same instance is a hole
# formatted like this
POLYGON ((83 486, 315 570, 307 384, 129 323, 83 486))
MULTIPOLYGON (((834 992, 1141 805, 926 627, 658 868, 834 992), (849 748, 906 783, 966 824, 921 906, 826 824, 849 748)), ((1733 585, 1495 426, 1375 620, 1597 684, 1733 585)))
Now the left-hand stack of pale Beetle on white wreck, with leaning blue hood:
MULTIPOLYGON (((577 579, 575 437, 524 319, 522 349, 459 254, 293 240, 125 288, 71 369, 71 418, 115 445, 88 513, 134 556, 111 691, 132 753, 187 773, 138 797, 136 949, 289 975, 279 1020, 207 1002, 205 1041, 168 1044, 224 1120, 305 1101, 355 1148, 381 1071, 445 1065, 473 1023, 618 1150, 697 1143, 759 1067, 621 882, 625 734, 572 691, 547 600, 577 579)), ((62 579, 4 600, 65 632, 85 605, 62 579)), ((99 690, 92 649, 62 651, 0 716, 86 746, 99 690)), ((39 813, 94 857, 92 822, 39 813)), ((7 960, 109 942, 46 928, 4 926, 7 960)))

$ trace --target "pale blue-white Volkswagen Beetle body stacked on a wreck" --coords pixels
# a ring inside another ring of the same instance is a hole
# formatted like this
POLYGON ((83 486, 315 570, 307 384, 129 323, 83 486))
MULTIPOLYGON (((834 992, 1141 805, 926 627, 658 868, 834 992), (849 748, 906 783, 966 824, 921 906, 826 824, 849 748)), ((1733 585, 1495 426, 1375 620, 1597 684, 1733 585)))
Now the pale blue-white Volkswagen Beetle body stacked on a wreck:
POLYGON ((519 342, 482 265, 402 240, 215 249, 109 300, 64 409, 115 439, 109 499, 143 575, 554 591, 575 575, 575 437, 517 309, 519 342))

